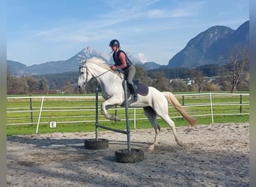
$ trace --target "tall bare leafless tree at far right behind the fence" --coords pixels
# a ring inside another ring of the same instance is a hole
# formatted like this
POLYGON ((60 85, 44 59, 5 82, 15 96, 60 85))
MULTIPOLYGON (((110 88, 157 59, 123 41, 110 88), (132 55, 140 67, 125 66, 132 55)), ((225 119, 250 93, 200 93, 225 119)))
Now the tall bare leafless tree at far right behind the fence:
POLYGON ((231 70, 231 93, 237 88, 240 77, 249 69, 249 48, 248 46, 236 45, 231 51, 229 58, 229 69, 231 70))

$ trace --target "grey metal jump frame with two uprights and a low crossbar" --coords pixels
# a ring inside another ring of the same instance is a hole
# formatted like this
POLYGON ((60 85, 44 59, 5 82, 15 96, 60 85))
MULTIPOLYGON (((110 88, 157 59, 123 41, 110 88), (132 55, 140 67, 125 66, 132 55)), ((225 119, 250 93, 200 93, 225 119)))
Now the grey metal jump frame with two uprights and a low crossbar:
POLYGON ((97 82, 97 85, 96 85, 96 105, 95 105, 95 132, 96 132, 96 141, 98 140, 98 128, 102 128, 102 129, 108 129, 108 130, 111 130, 111 131, 114 131, 114 132, 120 132, 120 133, 123 133, 123 134, 126 134, 127 135, 127 149, 128 149, 128 152, 130 153, 131 152, 131 146, 130 146, 130 138, 129 138, 129 114, 128 114, 128 101, 127 101, 127 81, 124 81, 124 100, 125 100, 125 116, 126 116, 126 124, 127 124, 127 131, 124 131, 124 130, 120 130, 120 129, 113 129, 113 128, 110 128, 110 127, 107 127, 107 126, 101 126, 99 125, 99 112, 98 112, 98 102, 99 102, 99 99, 98 99, 98 91, 99 91, 99 88, 98 88, 98 82, 97 82))

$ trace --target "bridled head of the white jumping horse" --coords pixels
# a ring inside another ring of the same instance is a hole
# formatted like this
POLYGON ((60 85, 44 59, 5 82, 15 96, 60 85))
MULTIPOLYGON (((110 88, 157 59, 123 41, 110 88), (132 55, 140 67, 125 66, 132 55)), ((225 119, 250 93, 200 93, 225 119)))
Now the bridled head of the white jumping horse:
POLYGON ((82 61, 82 64, 79 66, 79 79, 77 82, 77 88, 79 91, 85 90, 86 85, 88 82, 91 81, 93 75, 88 70, 88 65, 86 61, 82 61))

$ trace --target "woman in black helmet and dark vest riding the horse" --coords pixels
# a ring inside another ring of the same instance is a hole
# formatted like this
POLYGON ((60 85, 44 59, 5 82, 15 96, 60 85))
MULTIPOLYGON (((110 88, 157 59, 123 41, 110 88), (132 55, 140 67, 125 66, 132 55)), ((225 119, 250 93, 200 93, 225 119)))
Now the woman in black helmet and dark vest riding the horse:
POLYGON ((138 95, 135 91, 134 85, 132 83, 132 79, 135 76, 136 69, 132 62, 127 57, 124 51, 120 49, 120 43, 118 40, 111 40, 109 46, 113 52, 113 60, 115 65, 111 67, 112 70, 123 70, 124 71, 124 79, 127 80, 127 85, 130 93, 133 95, 134 100, 138 100, 138 95))

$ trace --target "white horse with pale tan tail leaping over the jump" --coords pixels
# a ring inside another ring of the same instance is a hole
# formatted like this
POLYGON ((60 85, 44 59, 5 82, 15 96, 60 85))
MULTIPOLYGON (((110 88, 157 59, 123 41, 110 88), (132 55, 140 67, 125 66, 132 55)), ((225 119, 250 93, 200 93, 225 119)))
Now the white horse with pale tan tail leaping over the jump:
MULTIPOLYGON (((101 105, 101 113, 109 120, 120 120, 120 117, 108 113, 108 109, 115 105, 124 106, 124 76, 113 71, 109 65, 100 58, 88 58, 82 61, 79 66, 78 89, 84 90, 92 79, 97 79, 105 101, 101 105)), ((128 106, 132 108, 143 108, 144 114, 150 120, 156 135, 150 149, 153 150, 158 144, 160 126, 156 121, 156 115, 162 117, 174 132, 174 138, 177 144, 182 146, 175 129, 174 121, 168 115, 168 102, 176 108, 177 111, 189 122, 191 126, 197 123, 195 119, 186 114, 184 108, 180 105, 177 98, 171 92, 160 92, 156 88, 148 87, 148 94, 142 96, 138 94, 138 100, 128 98, 128 106)))

